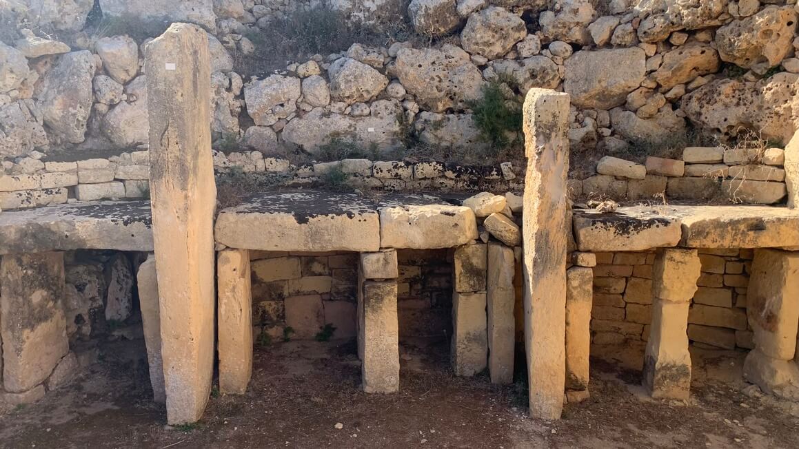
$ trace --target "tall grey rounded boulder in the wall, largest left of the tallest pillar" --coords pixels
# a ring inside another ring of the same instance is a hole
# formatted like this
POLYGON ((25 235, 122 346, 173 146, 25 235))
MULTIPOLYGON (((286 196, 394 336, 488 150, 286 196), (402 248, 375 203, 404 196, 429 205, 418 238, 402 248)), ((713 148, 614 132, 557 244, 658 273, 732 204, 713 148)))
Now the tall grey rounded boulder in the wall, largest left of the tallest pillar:
POLYGON ((58 139, 84 140, 93 93, 94 57, 88 50, 64 54, 38 86, 37 106, 58 139))

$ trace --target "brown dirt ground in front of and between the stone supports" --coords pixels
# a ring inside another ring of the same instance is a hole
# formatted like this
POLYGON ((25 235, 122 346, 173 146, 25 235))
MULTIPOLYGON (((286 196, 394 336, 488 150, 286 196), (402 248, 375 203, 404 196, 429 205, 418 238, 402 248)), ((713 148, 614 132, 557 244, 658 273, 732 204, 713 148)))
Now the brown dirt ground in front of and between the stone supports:
POLYGON ((70 386, 0 416, 0 446, 799 447, 799 404, 744 384, 744 353, 695 350, 682 404, 644 394, 641 349, 594 349, 590 400, 545 422, 527 417, 521 383, 451 376, 446 345, 404 345, 400 393, 381 396, 359 391, 353 343, 277 343, 256 349, 246 395, 214 390, 203 419, 181 427, 152 404, 146 365, 106 350, 70 386))

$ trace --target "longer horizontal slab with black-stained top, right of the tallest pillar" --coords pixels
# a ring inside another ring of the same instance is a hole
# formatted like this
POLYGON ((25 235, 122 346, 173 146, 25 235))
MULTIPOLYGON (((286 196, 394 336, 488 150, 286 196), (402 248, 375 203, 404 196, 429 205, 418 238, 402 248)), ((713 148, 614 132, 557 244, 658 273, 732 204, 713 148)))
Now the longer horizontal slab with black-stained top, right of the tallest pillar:
POLYGON ((220 212, 217 242, 270 251, 376 251, 375 204, 355 194, 282 191, 255 195, 220 212))

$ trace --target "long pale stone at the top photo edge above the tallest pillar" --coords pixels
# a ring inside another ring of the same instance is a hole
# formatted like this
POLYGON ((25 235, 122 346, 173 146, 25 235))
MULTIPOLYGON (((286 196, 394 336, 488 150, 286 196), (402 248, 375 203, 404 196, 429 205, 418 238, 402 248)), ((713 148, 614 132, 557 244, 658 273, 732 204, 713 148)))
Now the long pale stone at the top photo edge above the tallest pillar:
MULTIPOLYGON (((217 31, 217 14, 213 12, 213 0, 191 0, 190 2, 131 2, 130 0, 99 0, 102 14, 107 17, 136 17, 165 22, 189 22, 217 31)), ((89 0, 91 3, 91 0, 89 0)))

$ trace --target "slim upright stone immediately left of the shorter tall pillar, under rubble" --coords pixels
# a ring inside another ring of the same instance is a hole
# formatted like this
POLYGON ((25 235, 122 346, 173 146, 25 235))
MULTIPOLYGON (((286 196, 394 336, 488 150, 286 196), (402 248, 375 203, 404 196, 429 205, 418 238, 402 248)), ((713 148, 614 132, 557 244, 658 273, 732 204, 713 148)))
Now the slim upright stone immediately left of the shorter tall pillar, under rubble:
POLYGON ((488 372, 492 384, 513 383, 515 321, 515 259, 513 248, 499 242, 488 243, 487 313, 488 372))

